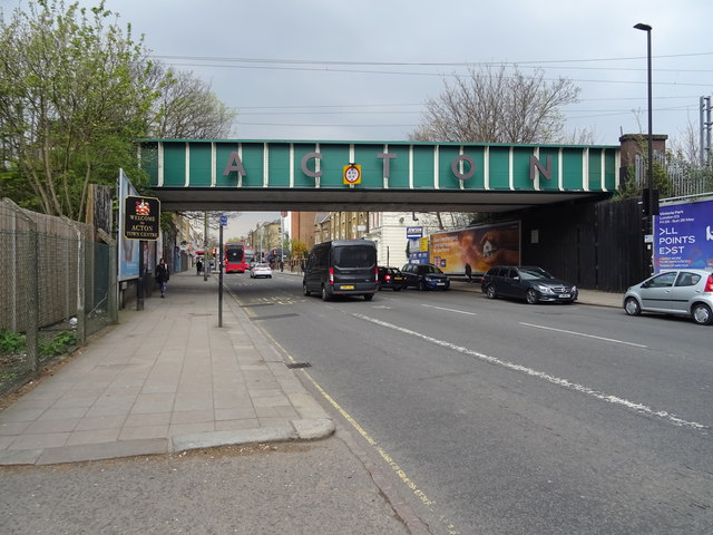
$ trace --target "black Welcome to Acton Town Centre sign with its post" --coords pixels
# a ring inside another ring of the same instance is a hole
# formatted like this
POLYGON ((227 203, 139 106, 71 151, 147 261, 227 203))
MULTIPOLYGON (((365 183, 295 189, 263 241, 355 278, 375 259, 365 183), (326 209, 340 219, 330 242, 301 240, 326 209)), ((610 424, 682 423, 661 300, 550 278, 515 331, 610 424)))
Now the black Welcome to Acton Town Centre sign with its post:
POLYGON ((124 202, 124 237, 138 240, 138 288, 136 310, 144 310, 144 242, 156 241, 160 233, 160 201, 128 195, 124 202))

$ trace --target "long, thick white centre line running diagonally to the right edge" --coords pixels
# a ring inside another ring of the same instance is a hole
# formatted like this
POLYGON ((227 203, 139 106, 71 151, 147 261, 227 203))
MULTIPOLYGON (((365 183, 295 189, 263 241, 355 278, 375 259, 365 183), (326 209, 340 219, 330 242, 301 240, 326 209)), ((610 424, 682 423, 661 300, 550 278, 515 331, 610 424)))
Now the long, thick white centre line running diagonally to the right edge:
POLYGON ((490 357, 490 356, 485 354, 485 353, 479 353, 478 351, 473 351, 471 349, 463 348, 461 346, 456 346, 455 343, 450 343, 450 342, 447 342, 445 340, 439 340, 437 338, 432 338, 432 337, 422 334, 420 332, 416 332, 416 331, 412 331, 410 329, 406 329, 403 327, 394 325, 394 324, 388 323, 385 321, 377 320, 375 318, 369 318, 368 315, 363 315, 363 314, 353 314, 353 315, 355 318, 361 319, 361 320, 369 321, 371 323, 375 323, 378 325, 385 327, 388 329, 393 329, 394 331, 399 331, 399 332, 402 332, 404 334, 409 334, 411 337, 420 338, 421 340, 426 340, 427 342, 434 343, 434 344, 440 346, 442 348, 450 349, 452 351, 458 351, 459 353, 469 354, 471 357, 476 357, 476 358, 478 358, 478 359, 480 359, 480 360, 482 360, 485 362, 488 362, 488 363, 491 363, 491 364, 496 364, 496 366, 501 366, 504 368, 507 368, 507 369, 512 370, 512 371, 518 371, 520 373, 526 373, 526 374, 528 374, 530 377, 536 377, 538 379, 543 379, 543 380, 545 380, 547 382, 550 382, 553 385, 557 385, 557 386, 566 388, 568 390, 574 390, 576 392, 584 393, 586 396, 589 396, 589 397, 595 398, 595 399, 599 399, 602 401, 606 401, 608 403, 618 405, 618 406, 622 406, 622 407, 631 409, 631 410, 635 410, 635 411, 641 412, 641 414, 646 415, 646 416, 654 416, 654 417, 661 418, 661 419, 663 419, 665 421, 668 421, 670 424, 674 424, 674 425, 680 426, 680 427, 690 427, 690 428, 699 430, 699 431, 709 429, 709 426, 705 426, 703 424, 699 424, 696 421, 687 421, 687 420, 684 420, 682 418, 678 418, 676 415, 672 415, 671 412, 666 412, 664 410, 654 410, 654 409, 652 409, 651 407, 648 407, 646 405, 636 403, 634 401, 629 401, 627 399, 623 399, 623 398, 619 398, 617 396, 611 396, 611 395, 607 395, 607 393, 604 393, 604 392, 599 392, 599 391, 594 390, 594 389, 592 389, 589 387, 586 387, 584 385, 578 385, 578 383, 572 382, 572 381, 569 381, 567 379, 563 379, 563 378, 559 378, 559 377, 550 376, 549 373, 545 373, 544 371, 537 371, 537 370, 534 370, 531 368, 527 368, 527 367, 521 366, 521 364, 516 364, 516 363, 512 363, 512 362, 508 362, 506 360, 500 360, 498 358, 490 357))

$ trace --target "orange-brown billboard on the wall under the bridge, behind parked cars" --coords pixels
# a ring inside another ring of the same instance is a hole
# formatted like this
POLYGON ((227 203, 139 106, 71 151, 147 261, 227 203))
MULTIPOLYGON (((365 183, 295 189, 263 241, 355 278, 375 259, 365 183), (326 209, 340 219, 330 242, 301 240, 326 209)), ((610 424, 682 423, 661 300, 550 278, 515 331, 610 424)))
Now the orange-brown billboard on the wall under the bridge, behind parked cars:
POLYGON ((485 273, 497 264, 519 265, 520 222, 482 225, 430 235, 431 263, 446 273, 485 273))

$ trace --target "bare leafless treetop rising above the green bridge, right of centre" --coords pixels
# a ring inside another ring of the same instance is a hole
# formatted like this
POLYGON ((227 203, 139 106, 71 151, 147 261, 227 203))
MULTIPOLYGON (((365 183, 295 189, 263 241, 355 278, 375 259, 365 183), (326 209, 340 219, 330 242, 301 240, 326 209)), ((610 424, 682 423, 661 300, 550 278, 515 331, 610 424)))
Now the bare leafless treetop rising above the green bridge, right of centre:
POLYGON ((526 76, 484 67, 445 81, 426 103, 417 142, 554 143, 564 136, 560 107, 577 101, 579 88, 566 78, 547 81, 543 70, 526 76))

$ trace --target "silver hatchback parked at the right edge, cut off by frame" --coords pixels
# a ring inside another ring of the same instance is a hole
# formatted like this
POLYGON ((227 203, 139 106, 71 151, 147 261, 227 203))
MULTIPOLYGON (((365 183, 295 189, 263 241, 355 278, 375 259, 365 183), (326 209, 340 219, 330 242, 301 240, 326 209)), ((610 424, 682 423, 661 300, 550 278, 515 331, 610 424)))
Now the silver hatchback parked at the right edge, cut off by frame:
POLYGON ((700 325, 713 323, 713 272, 672 270, 634 284, 624 294, 628 315, 658 312, 693 318, 700 325))

